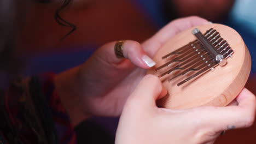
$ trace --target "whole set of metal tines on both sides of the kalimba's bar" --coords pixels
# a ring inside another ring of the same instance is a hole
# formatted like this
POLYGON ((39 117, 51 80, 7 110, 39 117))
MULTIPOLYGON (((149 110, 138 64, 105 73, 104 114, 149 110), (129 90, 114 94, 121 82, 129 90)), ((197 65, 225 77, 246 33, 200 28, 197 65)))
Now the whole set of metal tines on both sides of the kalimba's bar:
MULTIPOLYGON (((227 41, 224 40, 222 37, 220 37, 220 34, 219 32, 216 31, 216 29, 211 28, 204 35, 206 39, 209 41, 209 43, 211 43, 213 47, 223 55, 224 58, 228 58, 232 53, 234 53, 234 51, 231 50, 231 47, 229 46, 227 41)), ((165 71, 165 73, 162 73, 161 75, 159 75, 159 77, 162 77, 166 74, 173 73, 174 70, 183 70, 181 71, 181 73, 179 73, 176 76, 173 76, 168 81, 175 79, 178 76, 185 75, 189 71, 197 71, 195 74, 189 76, 187 79, 179 82, 177 84, 178 86, 181 86, 183 83, 188 82, 194 77, 202 73, 205 73, 207 70, 213 67, 216 67, 216 65, 218 65, 218 62, 215 61, 215 59, 212 58, 212 56, 205 49, 203 49, 203 46, 199 43, 199 40, 194 40, 189 44, 179 48, 178 50, 168 53, 167 55, 162 57, 162 59, 168 58, 171 55, 175 55, 175 54, 180 54, 180 55, 174 58, 172 61, 169 61, 161 65, 156 70, 164 68, 173 62, 181 62, 180 64, 176 64, 175 67, 172 67, 171 69, 165 71), (200 47, 195 50, 194 45, 195 46, 200 45, 200 47), (189 49, 189 48, 194 48, 194 49, 189 49), (201 55, 198 55, 200 53, 201 55)))

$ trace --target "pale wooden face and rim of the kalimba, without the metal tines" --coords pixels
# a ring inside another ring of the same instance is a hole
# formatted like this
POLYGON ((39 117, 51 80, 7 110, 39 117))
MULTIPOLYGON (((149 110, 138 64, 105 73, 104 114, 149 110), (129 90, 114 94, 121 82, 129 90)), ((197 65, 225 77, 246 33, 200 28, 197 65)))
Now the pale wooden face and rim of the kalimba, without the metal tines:
MULTIPOLYGON (((210 28, 216 29, 234 50, 233 57, 227 59, 228 63, 224 67, 218 65, 214 70, 181 86, 177 86, 177 83, 182 81, 181 77, 172 81, 166 81, 172 74, 161 77, 169 93, 167 97, 158 101, 161 106, 169 109, 190 109, 202 105, 225 106, 234 100, 245 86, 251 70, 251 57, 241 36, 234 29, 220 24, 196 28, 202 33, 210 28)), ((161 47, 154 57, 156 65, 148 71, 148 74, 159 75, 155 68, 166 62, 162 61, 162 56, 196 39, 191 33, 192 29, 177 34, 161 47)))

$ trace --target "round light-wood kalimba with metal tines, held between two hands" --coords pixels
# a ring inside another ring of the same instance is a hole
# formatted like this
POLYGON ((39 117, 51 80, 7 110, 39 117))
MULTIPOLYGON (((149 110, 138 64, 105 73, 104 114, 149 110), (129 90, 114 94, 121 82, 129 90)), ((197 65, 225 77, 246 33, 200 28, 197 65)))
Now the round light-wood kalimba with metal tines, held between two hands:
POLYGON ((160 106, 189 109, 225 106, 240 93, 251 70, 251 57, 232 28, 209 24, 177 34, 154 57, 148 74, 160 77, 168 95, 160 106))

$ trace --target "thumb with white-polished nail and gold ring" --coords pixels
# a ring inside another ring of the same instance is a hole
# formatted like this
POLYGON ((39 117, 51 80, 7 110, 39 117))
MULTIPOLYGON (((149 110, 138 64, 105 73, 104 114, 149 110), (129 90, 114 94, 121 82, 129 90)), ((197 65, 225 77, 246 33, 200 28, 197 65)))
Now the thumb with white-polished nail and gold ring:
MULTIPOLYGON (((119 64, 124 62, 124 59, 118 58, 115 55, 114 46, 117 41, 103 45, 98 51, 98 55, 101 56, 104 61, 111 64, 119 64)), ((123 43, 123 55, 125 58, 143 69, 149 69, 155 65, 155 62, 144 52, 141 44, 133 40, 125 40, 123 43)))

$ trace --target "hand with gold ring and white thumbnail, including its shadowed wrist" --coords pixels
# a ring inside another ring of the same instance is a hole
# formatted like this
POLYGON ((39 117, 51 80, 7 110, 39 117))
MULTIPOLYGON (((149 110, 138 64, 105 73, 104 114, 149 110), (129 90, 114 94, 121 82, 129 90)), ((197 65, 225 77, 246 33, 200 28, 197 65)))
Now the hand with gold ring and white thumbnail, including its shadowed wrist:
POLYGON ((126 40, 126 59, 115 56, 116 42, 108 43, 84 64, 58 75, 56 89, 73 123, 82 121, 85 114, 119 116, 128 95, 154 65, 150 57, 177 33, 207 23, 200 17, 185 17, 170 22, 143 44, 126 40))

